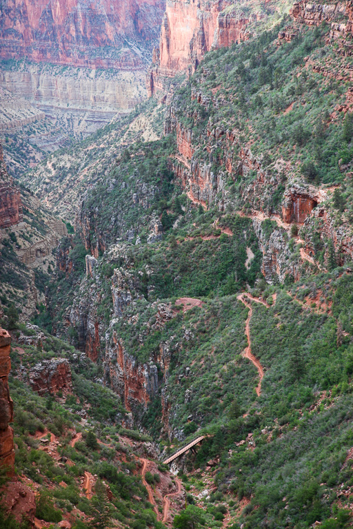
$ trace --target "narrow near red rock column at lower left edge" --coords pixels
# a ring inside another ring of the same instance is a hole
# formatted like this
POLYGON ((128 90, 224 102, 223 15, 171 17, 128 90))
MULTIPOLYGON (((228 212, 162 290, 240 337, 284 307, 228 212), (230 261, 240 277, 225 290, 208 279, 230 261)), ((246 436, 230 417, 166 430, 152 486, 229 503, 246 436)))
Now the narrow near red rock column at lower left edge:
POLYGON ((8 388, 11 338, 7 331, 0 329, 0 466, 14 472, 14 433, 9 423, 13 421, 13 405, 8 388))

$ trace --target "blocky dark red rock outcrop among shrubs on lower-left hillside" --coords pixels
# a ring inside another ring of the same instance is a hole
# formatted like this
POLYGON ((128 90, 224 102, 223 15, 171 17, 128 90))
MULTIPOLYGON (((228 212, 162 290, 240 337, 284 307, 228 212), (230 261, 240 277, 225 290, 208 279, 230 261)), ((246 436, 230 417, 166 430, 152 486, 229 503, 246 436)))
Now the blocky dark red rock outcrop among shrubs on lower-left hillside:
POLYGON ((71 369, 65 358, 42 360, 30 370, 30 385, 39 395, 72 391, 71 369))

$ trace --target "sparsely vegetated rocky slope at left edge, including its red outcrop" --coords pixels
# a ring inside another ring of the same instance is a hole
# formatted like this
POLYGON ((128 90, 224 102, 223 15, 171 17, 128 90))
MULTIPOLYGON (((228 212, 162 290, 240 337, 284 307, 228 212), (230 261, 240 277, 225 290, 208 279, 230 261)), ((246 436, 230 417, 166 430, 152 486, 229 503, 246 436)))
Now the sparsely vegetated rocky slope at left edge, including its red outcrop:
MULTIPOLYGON (((73 230, 72 230, 73 231, 73 230)), ((67 227, 8 174, 0 145, 0 314, 32 318, 45 300, 54 254, 67 227)))

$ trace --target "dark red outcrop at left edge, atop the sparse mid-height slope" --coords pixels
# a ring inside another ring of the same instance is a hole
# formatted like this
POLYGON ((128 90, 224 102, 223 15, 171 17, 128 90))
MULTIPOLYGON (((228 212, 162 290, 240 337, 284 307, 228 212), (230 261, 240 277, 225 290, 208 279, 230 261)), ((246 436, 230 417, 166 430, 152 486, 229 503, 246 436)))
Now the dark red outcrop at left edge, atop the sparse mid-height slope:
POLYGON ((16 225, 21 220, 21 196, 6 170, 3 148, 0 145, 0 229, 16 225))

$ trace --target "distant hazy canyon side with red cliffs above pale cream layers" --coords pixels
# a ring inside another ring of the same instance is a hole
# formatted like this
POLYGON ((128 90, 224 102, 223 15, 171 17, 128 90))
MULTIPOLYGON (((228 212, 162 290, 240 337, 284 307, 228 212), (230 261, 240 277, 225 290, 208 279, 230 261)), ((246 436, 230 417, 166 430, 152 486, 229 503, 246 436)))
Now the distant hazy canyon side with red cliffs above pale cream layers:
POLYGON ((0 139, 12 176, 145 99, 164 8, 164 0, 1 4, 0 139))

